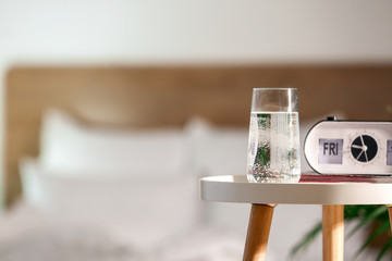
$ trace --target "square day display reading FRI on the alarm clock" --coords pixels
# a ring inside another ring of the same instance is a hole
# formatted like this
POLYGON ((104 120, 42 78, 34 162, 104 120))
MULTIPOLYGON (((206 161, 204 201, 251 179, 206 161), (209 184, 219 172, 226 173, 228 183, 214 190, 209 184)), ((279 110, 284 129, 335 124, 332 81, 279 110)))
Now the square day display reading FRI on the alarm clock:
POLYGON ((342 164, 343 139, 320 139, 319 158, 320 164, 342 164))

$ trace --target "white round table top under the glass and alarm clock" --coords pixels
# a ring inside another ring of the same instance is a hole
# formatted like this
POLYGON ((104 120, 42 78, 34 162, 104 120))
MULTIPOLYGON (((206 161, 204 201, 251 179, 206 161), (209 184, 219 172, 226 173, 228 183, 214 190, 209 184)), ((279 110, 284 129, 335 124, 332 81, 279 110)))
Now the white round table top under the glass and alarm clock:
POLYGON ((282 204, 391 204, 391 176, 302 175, 299 183, 248 183, 242 176, 200 179, 203 200, 282 204))

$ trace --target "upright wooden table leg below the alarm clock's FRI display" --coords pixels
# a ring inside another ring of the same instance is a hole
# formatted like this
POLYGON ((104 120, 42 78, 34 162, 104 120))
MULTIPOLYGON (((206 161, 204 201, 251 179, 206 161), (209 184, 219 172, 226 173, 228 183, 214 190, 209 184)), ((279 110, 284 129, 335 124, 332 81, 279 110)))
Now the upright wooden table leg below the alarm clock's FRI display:
POLYGON ((322 206, 322 260, 344 259, 344 206, 322 206))

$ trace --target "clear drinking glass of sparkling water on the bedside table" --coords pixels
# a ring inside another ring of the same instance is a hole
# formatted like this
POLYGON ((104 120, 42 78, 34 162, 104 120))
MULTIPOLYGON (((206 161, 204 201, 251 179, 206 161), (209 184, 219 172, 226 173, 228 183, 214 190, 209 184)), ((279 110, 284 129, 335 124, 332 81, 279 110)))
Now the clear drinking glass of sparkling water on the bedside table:
POLYGON ((299 123, 295 88, 253 90, 247 179, 296 183, 301 177, 299 123))

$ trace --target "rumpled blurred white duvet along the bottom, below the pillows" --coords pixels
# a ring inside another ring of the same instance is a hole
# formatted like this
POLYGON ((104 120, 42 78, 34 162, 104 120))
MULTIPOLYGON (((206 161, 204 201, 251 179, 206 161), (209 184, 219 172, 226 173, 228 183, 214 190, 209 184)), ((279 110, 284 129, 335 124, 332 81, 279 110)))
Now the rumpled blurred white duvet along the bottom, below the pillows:
POLYGON ((26 202, 0 216, 2 261, 234 261, 242 248, 242 239, 224 231, 197 227, 142 251, 106 227, 52 225, 26 202))

